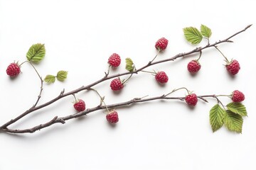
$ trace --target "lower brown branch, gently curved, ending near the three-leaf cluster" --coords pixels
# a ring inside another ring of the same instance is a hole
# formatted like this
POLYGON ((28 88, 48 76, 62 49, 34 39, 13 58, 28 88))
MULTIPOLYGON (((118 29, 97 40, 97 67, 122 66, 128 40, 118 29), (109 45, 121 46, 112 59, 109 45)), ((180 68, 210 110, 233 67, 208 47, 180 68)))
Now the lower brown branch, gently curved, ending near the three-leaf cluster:
MULTIPOLYGON (((198 96, 198 98, 201 98, 203 101, 206 101, 205 98, 216 98, 215 95, 204 95, 204 96, 198 96)), ((75 113, 73 115, 67 115, 65 117, 61 117, 58 118, 58 116, 55 116, 52 120, 50 120, 47 123, 41 124, 41 125, 37 125, 33 128, 28 128, 28 129, 23 129, 23 130, 12 130, 9 128, 1 128, 0 132, 10 132, 10 133, 33 133, 36 132, 37 130, 41 130, 43 128, 47 128, 51 125, 54 125, 55 123, 62 123, 64 124, 66 120, 70 120, 73 118, 79 118, 82 117, 84 115, 87 115, 88 113, 92 113, 95 111, 99 111, 102 109, 106 109, 106 108, 117 108, 117 107, 121 107, 121 106, 131 106, 135 103, 142 103, 142 102, 147 102, 147 101, 156 101, 156 100, 179 100, 179 101, 184 101, 185 97, 166 97, 166 95, 161 95, 161 96, 156 96, 156 97, 152 97, 152 98, 133 98, 132 100, 129 101, 124 101, 122 103, 114 103, 114 104, 110 104, 107 106, 96 106, 94 108, 88 108, 86 111, 82 111, 80 113, 75 113)), ((206 101, 208 102, 208 101, 206 101)))

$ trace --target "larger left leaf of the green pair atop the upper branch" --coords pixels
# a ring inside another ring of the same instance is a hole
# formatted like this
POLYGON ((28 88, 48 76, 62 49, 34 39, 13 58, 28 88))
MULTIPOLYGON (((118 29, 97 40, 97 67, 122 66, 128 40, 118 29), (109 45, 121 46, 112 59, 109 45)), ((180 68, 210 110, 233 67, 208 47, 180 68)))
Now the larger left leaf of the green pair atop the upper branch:
POLYGON ((200 31, 197 28, 194 28, 194 27, 183 28, 183 32, 186 40, 188 42, 191 42, 191 44, 193 45, 199 44, 203 39, 203 35, 200 33, 200 31))

